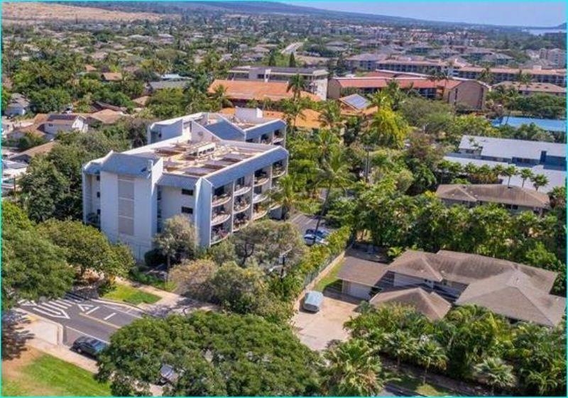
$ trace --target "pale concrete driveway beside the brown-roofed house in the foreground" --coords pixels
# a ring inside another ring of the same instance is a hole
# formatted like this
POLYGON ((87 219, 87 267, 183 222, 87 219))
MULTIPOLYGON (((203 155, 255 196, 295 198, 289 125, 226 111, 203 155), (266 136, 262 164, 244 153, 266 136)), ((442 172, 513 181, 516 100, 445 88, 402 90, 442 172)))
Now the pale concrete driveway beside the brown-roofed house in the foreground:
POLYGON ((324 350, 332 340, 345 341, 349 334, 343 328, 345 321, 356 316, 359 303, 346 302, 342 299, 325 296, 322 309, 316 314, 299 309, 292 319, 295 333, 300 341, 312 350, 324 350))

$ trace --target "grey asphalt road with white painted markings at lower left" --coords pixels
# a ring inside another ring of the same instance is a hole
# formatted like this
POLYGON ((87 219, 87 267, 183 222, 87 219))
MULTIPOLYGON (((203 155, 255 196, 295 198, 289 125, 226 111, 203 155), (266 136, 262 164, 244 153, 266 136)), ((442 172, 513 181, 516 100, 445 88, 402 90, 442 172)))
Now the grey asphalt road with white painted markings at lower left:
POLYGON ((85 299, 67 293, 62 299, 45 302, 23 300, 21 309, 38 314, 63 326, 63 342, 70 346, 79 336, 108 342, 112 333, 142 317, 143 312, 129 306, 110 304, 97 299, 85 299))

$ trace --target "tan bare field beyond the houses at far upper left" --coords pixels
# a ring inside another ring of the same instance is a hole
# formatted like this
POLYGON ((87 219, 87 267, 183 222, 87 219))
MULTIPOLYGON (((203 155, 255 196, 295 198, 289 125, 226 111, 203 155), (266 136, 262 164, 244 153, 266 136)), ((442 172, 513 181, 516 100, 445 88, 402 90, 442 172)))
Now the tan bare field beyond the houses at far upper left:
MULTIPOLYGON (((173 16, 168 16, 172 18, 173 16)), ((2 3, 2 23, 35 25, 43 22, 118 22, 159 21, 158 13, 124 12, 94 7, 67 6, 53 3, 2 3)))

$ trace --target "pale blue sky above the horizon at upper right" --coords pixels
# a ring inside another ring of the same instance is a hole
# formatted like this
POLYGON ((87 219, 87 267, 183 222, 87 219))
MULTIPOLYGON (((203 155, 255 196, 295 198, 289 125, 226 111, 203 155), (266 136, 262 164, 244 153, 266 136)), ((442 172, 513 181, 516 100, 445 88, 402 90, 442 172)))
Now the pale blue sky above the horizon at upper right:
POLYGON ((566 1, 283 1, 335 11, 515 26, 557 26, 566 21, 567 12, 566 1))

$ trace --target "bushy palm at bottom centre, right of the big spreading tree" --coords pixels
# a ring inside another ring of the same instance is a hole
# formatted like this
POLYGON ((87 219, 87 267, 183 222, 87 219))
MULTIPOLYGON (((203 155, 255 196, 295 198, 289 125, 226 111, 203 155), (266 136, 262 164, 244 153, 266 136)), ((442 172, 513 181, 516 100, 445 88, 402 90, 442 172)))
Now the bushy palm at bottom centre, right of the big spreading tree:
POLYGON ((378 355, 366 341, 351 339, 324 353, 324 391, 336 396, 376 396, 385 384, 395 380, 383 369, 378 355))

